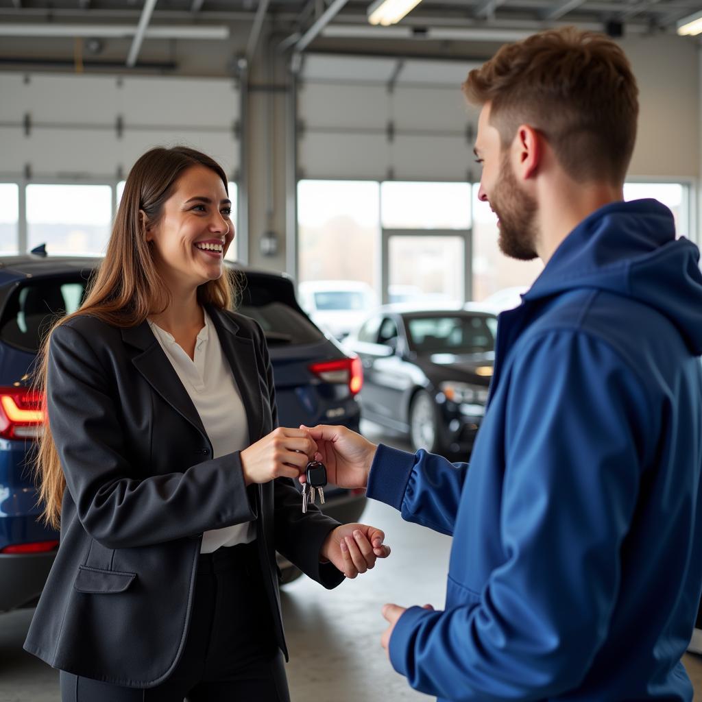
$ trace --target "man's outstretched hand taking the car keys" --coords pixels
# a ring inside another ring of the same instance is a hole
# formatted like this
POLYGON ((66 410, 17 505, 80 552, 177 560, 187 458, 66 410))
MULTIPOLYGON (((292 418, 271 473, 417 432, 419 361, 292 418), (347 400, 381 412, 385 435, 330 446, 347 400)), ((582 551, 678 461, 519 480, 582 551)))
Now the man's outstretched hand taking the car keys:
MULTIPOLYGON (((376 455, 376 444, 343 426, 318 424, 300 425, 317 443, 314 458, 326 467, 329 482, 345 488, 364 488, 368 484, 371 463, 376 455)), ((300 475, 300 482, 305 482, 300 475)))

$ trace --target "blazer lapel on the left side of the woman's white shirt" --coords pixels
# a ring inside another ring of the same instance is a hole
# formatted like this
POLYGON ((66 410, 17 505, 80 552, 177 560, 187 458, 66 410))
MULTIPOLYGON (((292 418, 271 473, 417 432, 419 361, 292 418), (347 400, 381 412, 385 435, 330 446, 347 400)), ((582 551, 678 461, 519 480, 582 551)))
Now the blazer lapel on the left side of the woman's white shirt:
POLYGON ((207 432, 202 424, 197 409, 192 404, 190 395, 173 370, 157 338, 152 333, 149 323, 122 329, 122 340, 137 347, 142 352, 132 359, 135 368, 144 376, 156 392, 163 397, 183 418, 190 422, 205 439, 207 432))

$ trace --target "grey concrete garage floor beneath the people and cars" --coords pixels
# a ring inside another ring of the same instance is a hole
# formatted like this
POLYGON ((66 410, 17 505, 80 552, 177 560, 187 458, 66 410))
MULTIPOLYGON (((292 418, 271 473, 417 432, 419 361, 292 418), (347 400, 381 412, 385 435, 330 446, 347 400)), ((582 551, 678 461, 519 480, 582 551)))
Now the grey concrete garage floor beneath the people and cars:
MULTIPOLYGON (((373 440, 378 430, 364 426, 373 440)), ((388 444, 406 447, 400 438, 388 444)), ((293 702, 411 702, 430 699, 411 690, 380 648, 385 602, 444 604, 444 578, 451 540, 407 524, 399 512, 369 502, 363 521, 385 531, 392 555, 386 562, 327 592, 300 578, 282 594, 291 660, 287 666, 293 702)), ((22 651, 32 611, 0 615, 0 702, 58 702, 58 673, 22 651)), ((702 658, 684 663, 702 701, 702 658)), ((99 701, 96 701, 99 702, 99 701)), ((248 702, 248 701, 247 701, 248 702)))

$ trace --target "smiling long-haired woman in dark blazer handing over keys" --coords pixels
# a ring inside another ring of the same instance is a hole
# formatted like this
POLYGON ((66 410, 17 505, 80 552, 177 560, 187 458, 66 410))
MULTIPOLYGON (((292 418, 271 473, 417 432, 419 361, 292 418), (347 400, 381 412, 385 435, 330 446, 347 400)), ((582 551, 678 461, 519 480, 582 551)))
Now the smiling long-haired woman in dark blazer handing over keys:
POLYGON ((317 444, 278 426, 265 333, 233 311, 231 213, 216 161, 144 154, 44 343, 37 470, 61 540, 25 648, 64 701, 287 702, 275 552, 326 588, 389 553, 378 529, 300 512, 317 444))

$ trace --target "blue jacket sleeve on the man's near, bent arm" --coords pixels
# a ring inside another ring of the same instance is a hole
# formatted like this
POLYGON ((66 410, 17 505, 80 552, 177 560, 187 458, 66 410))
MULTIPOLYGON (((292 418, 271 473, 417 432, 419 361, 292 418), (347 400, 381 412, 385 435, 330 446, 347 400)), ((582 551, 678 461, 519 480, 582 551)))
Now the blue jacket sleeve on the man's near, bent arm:
POLYGON ((520 349, 505 415, 505 562, 482 592, 453 583, 464 604, 399 618, 390 659, 413 688, 456 702, 537 700, 583 679, 607 637, 653 453, 643 387, 583 333, 552 331, 520 349))

